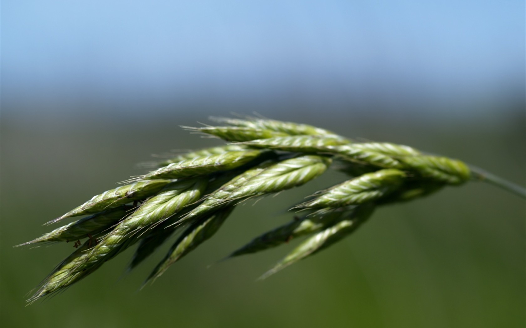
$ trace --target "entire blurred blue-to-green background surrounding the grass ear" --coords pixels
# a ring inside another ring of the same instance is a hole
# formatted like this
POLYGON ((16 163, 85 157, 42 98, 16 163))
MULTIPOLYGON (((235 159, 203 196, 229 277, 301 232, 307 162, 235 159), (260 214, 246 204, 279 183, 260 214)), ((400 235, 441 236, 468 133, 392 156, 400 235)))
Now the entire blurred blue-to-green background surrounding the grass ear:
POLYGON ((73 248, 12 246, 143 173, 136 164, 150 154, 218 144, 179 125, 230 112, 409 144, 524 186, 525 9, 520 0, 1 1, 2 326, 524 327, 525 202, 480 183, 382 208, 350 238, 258 282, 294 245, 214 263, 341 175, 239 207, 140 292, 166 247, 124 274, 128 250, 25 307, 73 248))

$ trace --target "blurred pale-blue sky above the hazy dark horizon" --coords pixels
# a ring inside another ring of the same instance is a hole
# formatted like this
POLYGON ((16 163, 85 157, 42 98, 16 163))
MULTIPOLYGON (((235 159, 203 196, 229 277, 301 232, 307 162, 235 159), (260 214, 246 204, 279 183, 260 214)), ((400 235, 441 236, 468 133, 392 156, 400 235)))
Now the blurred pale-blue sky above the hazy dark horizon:
POLYGON ((472 113, 525 93, 522 0, 1 4, 2 111, 381 99, 472 113))

